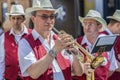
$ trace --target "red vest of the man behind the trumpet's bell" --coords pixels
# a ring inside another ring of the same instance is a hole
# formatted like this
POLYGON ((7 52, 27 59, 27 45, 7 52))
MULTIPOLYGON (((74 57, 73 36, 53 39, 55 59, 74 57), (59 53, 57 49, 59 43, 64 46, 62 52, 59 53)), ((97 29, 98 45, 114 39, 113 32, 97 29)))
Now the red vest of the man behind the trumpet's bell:
MULTIPOLYGON (((81 44, 83 37, 80 37, 77 39, 77 42, 81 44)), ((86 49, 87 44, 83 44, 82 47, 86 49)), ((96 55, 95 55, 96 56, 96 55)), ((106 57, 108 60, 108 55, 106 52, 102 53, 102 56, 106 57)), ((85 61, 86 56, 84 55, 85 61)), ((107 80, 108 78, 108 70, 109 70, 110 61, 108 60, 108 63, 106 66, 100 66, 99 68, 95 69, 95 80, 107 80)), ((73 77, 73 80, 86 80, 86 75, 83 74, 81 77, 73 77)))

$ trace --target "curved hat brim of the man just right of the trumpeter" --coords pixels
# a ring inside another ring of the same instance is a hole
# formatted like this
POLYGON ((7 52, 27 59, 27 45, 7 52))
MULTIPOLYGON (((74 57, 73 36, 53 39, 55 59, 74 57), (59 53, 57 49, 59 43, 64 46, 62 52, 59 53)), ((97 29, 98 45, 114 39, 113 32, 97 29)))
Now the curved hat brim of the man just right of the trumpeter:
POLYGON ((107 27, 106 21, 105 21, 104 19, 102 19, 102 18, 99 18, 99 17, 81 17, 81 16, 79 16, 79 20, 80 20, 80 22, 81 22, 82 24, 83 24, 83 21, 84 21, 85 19, 94 19, 94 20, 100 22, 100 23, 102 24, 102 28, 103 28, 103 29, 105 29, 105 28, 107 27))

